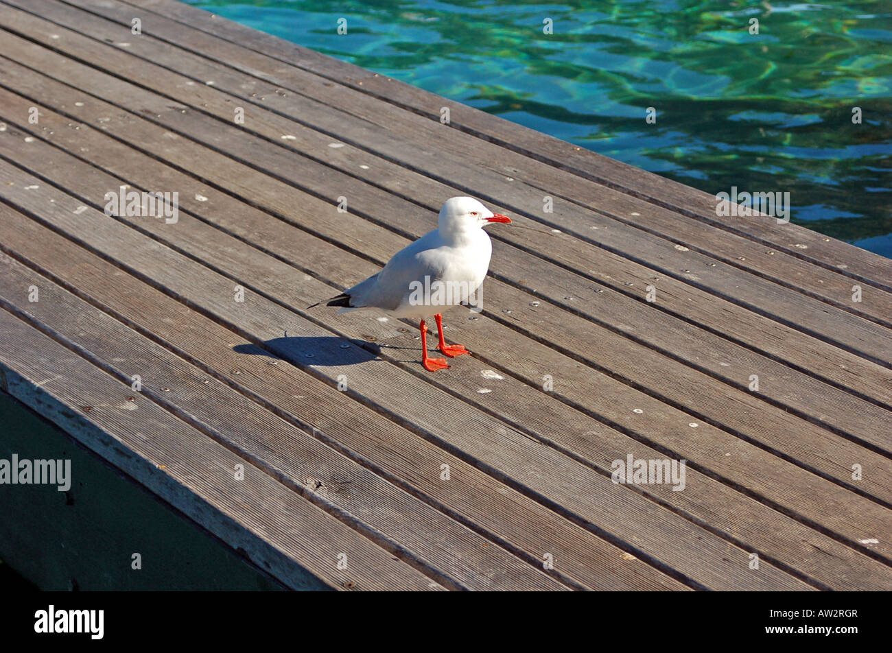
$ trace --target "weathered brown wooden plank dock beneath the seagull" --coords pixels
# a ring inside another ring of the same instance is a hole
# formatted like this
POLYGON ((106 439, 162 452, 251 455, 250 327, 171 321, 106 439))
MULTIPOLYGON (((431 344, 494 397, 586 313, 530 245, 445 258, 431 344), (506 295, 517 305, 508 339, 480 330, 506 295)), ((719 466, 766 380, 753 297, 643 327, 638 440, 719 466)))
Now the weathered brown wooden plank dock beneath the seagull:
POLYGON ((892 589, 892 260, 173 0, 0 29, 0 389, 278 583, 892 589), (304 309, 458 194, 473 356, 304 309))

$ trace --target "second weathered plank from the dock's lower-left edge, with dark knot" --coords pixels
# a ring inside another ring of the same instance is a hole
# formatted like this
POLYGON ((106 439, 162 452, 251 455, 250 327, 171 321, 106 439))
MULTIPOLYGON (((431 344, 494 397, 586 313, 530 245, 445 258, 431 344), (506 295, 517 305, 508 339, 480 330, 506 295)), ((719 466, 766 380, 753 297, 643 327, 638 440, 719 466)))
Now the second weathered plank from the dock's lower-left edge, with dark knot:
MULTIPOLYGON (((409 558, 444 585, 473 590, 566 589, 539 568, 388 484, 4 254, 0 254, 0 281, 0 303, 5 301, 17 315, 29 318, 32 326, 51 329, 55 337, 89 351, 93 362, 109 374, 125 380, 139 374, 143 396, 326 512, 336 512, 342 521, 399 557, 409 558), (25 296, 29 279, 39 288, 40 301, 17 306, 14 299, 25 296)), ((148 312, 155 307, 140 309, 148 312)))

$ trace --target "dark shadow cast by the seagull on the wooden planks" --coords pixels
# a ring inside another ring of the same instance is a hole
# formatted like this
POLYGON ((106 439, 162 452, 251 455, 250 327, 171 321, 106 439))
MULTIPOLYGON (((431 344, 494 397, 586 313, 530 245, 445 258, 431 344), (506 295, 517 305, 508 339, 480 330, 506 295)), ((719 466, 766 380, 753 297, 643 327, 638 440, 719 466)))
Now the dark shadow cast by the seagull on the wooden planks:
POLYGON ((366 363, 369 360, 376 360, 381 352, 377 343, 368 343, 358 338, 348 340, 332 335, 284 336, 264 341, 262 347, 244 343, 236 344, 232 349, 237 353, 287 360, 295 365, 326 367, 366 363))

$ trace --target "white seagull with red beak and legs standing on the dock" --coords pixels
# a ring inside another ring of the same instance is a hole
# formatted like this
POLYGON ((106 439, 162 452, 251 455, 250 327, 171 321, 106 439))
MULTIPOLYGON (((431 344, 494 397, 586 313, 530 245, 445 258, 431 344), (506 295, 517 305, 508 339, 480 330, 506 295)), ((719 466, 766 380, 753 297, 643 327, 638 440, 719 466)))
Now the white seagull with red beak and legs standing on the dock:
POLYGON ((469 303, 483 284, 492 254, 490 236, 483 227, 510 221, 473 197, 452 197, 443 204, 434 231, 393 254, 384 269, 332 297, 326 305, 340 307, 339 313, 383 309, 396 318, 420 318, 421 364, 429 372, 448 368, 446 359, 427 356, 425 318, 434 314, 444 355, 455 358, 470 353, 460 344, 446 344, 442 311, 469 303))

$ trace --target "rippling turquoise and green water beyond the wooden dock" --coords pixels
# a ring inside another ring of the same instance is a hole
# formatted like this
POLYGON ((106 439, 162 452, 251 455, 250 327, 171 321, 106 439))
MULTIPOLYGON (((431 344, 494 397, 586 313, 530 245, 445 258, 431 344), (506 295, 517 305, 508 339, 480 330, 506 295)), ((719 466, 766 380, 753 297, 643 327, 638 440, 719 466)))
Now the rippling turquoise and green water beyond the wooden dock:
POLYGON ((188 1, 892 258, 888 0, 188 1))

